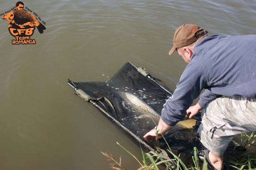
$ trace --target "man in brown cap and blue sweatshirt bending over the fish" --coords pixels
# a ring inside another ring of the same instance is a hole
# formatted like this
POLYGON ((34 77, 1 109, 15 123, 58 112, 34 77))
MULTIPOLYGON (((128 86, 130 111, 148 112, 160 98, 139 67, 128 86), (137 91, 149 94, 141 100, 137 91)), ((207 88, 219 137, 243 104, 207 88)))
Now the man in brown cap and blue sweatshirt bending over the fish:
POLYGON ((159 139, 186 116, 202 111, 198 129, 209 164, 223 169, 223 154, 236 134, 256 131, 256 35, 207 35, 194 24, 176 29, 173 48, 188 63, 173 96, 164 104, 157 128, 145 139, 159 139), (192 102, 201 94, 198 103, 192 102))

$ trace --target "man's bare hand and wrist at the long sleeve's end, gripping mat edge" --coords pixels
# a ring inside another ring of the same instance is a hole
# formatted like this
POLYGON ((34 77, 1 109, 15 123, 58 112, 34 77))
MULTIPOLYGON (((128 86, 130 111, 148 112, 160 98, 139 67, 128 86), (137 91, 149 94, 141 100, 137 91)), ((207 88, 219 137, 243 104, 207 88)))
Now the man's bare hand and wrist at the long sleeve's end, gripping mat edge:
POLYGON ((164 123, 164 121, 160 118, 159 123, 157 125, 156 131, 152 129, 151 131, 147 132, 143 137, 144 139, 150 139, 150 140, 157 140, 162 137, 161 134, 164 134, 169 129, 171 129, 172 126, 167 125, 164 123))

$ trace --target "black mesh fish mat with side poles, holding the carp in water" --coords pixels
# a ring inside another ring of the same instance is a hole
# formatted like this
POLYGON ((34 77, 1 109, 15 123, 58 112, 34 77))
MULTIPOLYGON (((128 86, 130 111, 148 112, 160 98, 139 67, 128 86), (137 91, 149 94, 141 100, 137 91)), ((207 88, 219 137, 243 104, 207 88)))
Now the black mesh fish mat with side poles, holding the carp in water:
POLYGON ((169 146, 164 139, 143 139, 144 134, 158 123, 159 118, 154 114, 160 117, 164 103, 172 95, 163 82, 152 77, 144 68, 128 62, 107 82, 73 82, 68 79, 67 84, 75 90, 76 95, 92 103, 146 149, 161 152, 161 149, 167 150, 170 146, 185 165, 193 164, 194 147, 200 148, 197 138, 200 116, 194 117, 194 127, 171 128, 164 135, 169 146))

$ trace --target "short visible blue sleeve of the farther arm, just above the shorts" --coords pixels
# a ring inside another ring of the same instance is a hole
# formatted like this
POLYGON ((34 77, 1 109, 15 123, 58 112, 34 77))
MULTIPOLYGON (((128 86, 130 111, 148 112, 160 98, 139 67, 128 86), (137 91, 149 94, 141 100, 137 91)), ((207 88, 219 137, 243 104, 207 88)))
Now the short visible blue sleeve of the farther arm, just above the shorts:
POLYGON ((211 101, 215 100, 216 98, 220 98, 222 95, 214 94, 208 89, 205 89, 204 93, 200 95, 200 99, 198 101, 198 104, 205 108, 211 101))

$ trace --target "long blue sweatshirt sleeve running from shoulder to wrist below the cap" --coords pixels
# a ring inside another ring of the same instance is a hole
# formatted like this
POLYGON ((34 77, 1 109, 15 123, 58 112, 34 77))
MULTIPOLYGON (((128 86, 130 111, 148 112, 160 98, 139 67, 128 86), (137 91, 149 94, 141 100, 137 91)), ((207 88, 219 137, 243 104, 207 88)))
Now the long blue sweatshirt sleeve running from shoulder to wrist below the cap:
POLYGON ((199 96, 205 87, 206 78, 200 62, 193 60, 185 68, 177 84, 173 96, 164 104, 161 119, 170 126, 174 126, 187 115, 186 110, 192 105, 193 100, 199 96))

